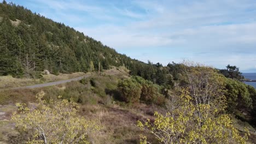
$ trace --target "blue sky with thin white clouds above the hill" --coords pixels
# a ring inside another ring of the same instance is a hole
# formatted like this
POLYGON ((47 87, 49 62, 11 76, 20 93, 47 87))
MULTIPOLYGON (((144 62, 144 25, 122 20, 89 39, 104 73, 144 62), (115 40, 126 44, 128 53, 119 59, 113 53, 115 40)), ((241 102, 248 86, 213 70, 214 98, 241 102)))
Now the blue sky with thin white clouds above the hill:
POLYGON ((8 0, 131 58, 256 73, 255 0, 8 0))

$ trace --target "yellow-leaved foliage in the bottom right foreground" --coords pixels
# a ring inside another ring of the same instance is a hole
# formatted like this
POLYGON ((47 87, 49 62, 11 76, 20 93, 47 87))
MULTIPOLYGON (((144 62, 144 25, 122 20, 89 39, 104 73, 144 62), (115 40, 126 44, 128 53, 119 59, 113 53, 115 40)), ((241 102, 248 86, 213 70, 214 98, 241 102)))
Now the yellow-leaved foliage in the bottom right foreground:
MULTIPOLYGON (((214 115, 209 104, 194 105, 187 92, 181 99, 182 106, 173 113, 155 112, 154 122, 138 121, 137 126, 161 143, 246 143, 249 133, 240 136, 229 115, 214 115)), ((141 135, 141 143, 149 143, 146 136, 141 135)))

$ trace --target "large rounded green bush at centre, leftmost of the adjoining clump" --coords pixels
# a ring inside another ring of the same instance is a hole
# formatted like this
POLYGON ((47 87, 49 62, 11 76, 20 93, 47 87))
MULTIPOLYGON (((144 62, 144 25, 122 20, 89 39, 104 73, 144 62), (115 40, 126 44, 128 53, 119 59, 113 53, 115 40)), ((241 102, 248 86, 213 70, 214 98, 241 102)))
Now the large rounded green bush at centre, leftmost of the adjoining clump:
POLYGON ((125 79, 118 82, 118 91, 121 97, 128 103, 139 102, 141 97, 141 85, 134 79, 125 79))

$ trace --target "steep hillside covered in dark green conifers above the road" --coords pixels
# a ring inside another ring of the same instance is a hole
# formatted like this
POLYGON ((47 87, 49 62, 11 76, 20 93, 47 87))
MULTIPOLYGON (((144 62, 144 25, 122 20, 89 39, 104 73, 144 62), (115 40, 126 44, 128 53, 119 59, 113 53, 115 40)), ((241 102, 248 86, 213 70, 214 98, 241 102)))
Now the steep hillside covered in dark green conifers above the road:
MULTIPOLYGON (((131 67, 130 57, 117 53, 75 29, 32 13, 13 3, 0 3, 0 75, 37 76, 108 69, 109 65, 131 67)), ((139 62, 140 63, 140 62, 139 62)))

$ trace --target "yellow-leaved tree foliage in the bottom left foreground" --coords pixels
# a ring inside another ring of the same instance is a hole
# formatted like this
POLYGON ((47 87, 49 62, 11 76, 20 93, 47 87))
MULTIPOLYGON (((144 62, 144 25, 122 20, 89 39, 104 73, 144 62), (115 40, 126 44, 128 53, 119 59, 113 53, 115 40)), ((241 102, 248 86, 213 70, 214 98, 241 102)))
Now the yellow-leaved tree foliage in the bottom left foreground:
POLYGON ((37 94, 38 109, 16 104, 19 109, 12 120, 16 127, 33 134, 27 143, 89 143, 88 135, 101 129, 97 121, 77 115, 77 103, 66 99, 46 103, 43 95, 43 92, 37 94))

